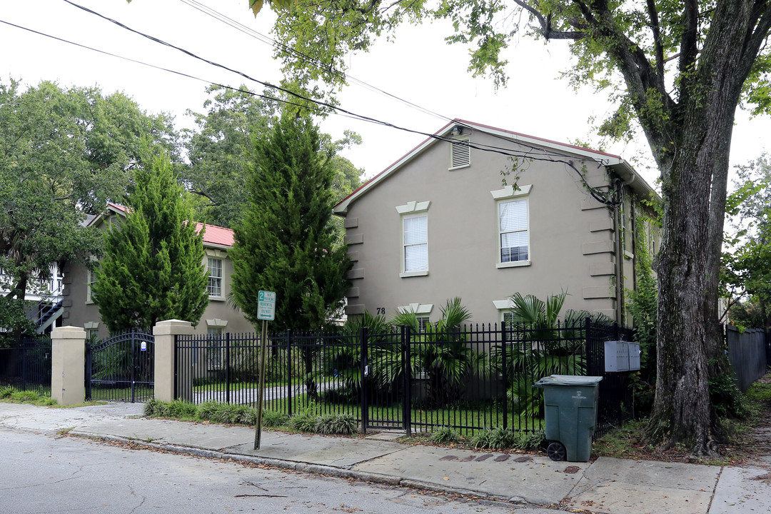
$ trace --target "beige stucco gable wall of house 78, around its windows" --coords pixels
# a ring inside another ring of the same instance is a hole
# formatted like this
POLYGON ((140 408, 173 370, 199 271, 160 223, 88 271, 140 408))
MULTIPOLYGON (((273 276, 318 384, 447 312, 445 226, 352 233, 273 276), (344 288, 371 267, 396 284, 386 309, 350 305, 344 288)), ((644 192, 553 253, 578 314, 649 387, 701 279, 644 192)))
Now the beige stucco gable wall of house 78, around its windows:
MULTIPOLYGON (((513 142, 473 132, 473 143, 509 146, 513 142)), ((574 166, 592 186, 607 186, 608 172, 574 157, 574 166)), ((565 309, 615 315, 614 220, 612 210, 592 199, 574 170, 563 163, 520 163, 518 184, 530 185, 530 265, 498 268, 498 214, 492 190, 500 190, 507 157, 471 149, 468 167, 448 170, 449 143, 437 142, 382 180, 348 207, 349 314, 379 308, 390 317, 408 304, 439 307, 461 297, 477 322, 500 321, 493 301, 511 294, 567 291, 565 309), (402 271, 402 222, 396 207, 430 201, 429 274, 399 277, 402 271)), ((511 182, 511 178, 509 181, 511 182)))

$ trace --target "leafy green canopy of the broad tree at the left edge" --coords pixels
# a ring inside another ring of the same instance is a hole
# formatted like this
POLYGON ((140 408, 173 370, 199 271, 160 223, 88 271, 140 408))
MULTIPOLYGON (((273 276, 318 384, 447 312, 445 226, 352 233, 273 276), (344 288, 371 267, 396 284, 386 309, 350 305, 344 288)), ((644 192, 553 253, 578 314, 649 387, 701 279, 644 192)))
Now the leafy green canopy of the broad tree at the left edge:
POLYGON ((167 116, 144 113, 122 93, 0 83, 5 328, 29 329, 19 315, 25 295, 49 280, 52 264, 99 252, 97 234, 80 224, 86 213, 124 193, 143 146, 173 150, 175 137, 167 116))

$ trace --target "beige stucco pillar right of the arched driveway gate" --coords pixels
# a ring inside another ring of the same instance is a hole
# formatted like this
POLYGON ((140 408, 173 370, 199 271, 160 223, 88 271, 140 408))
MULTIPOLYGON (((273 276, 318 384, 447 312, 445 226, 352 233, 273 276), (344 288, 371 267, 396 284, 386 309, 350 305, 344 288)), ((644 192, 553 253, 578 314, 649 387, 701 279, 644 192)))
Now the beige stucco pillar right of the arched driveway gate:
MULTIPOLYGON (((167 320, 159 321, 153 327, 155 336, 155 393, 154 397, 161 401, 172 401, 175 398, 192 401, 192 375, 180 373, 175 377, 174 369, 174 336, 193 334, 193 324, 190 321, 167 320)), ((183 360, 190 360, 190 352, 183 353, 183 360)), ((190 363, 177 362, 180 368, 190 367, 190 363)))

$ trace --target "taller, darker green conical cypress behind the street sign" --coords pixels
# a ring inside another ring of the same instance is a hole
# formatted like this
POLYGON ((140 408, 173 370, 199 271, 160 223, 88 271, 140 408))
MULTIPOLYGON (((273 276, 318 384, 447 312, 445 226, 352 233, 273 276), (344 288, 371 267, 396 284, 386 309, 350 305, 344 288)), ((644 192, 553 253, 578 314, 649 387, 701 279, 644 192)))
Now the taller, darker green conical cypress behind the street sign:
POLYGON ((249 207, 231 250, 236 303, 258 322, 258 291, 275 291, 277 329, 318 329, 342 304, 350 261, 335 247, 333 152, 311 119, 283 116, 254 139, 249 207))

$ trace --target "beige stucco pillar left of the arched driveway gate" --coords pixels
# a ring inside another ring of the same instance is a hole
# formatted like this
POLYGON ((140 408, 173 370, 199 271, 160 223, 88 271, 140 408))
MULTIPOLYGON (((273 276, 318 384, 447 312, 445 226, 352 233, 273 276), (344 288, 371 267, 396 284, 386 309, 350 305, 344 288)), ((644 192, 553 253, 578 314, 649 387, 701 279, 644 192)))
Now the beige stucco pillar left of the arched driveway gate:
POLYGON ((86 400, 86 331, 59 327, 51 331, 51 398, 59 405, 86 400))

